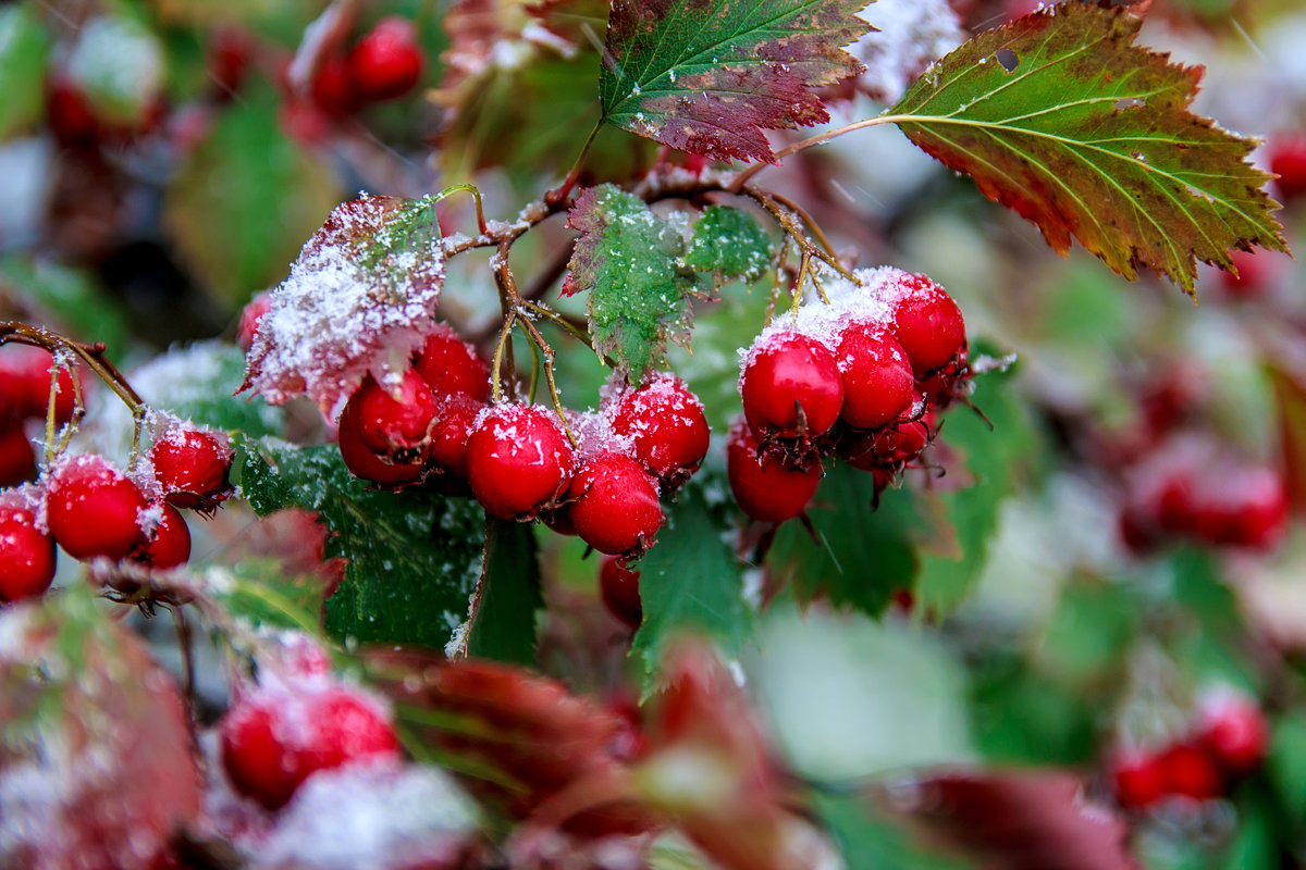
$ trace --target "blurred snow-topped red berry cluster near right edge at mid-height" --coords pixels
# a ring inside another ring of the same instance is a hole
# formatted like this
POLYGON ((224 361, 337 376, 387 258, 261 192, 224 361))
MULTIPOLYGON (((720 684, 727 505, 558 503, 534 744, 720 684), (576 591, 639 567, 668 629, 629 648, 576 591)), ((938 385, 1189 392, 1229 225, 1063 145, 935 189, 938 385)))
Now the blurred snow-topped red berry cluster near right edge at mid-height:
POLYGON ((1272 549, 1288 528, 1288 488, 1276 470, 1230 459, 1220 445, 1178 437, 1127 481, 1121 536, 1145 553, 1171 540, 1272 549))

